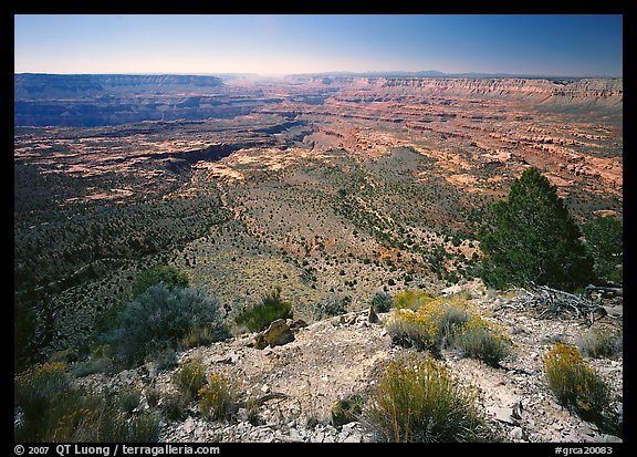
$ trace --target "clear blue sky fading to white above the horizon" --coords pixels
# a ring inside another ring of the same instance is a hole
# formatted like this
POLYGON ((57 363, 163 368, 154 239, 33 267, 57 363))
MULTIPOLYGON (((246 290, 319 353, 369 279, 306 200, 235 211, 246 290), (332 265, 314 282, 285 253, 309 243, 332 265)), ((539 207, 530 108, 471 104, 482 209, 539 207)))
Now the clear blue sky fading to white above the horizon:
POLYGON ((17 14, 15 73, 623 76, 622 14, 17 14))

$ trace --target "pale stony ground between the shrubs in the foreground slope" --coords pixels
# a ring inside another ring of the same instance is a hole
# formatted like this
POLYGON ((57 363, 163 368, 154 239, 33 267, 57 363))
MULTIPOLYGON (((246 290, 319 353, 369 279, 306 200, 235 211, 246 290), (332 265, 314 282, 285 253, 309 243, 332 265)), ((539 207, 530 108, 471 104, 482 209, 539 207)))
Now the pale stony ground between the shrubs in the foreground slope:
MULTIPOLYGON (((467 292, 464 292, 467 293, 467 292)), ((513 354, 492 367, 452 351, 442 359, 463 384, 481 391, 481 407, 504 442, 614 443, 616 430, 585 422, 556 403, 542 368, 549 345, 575 343, 589 329, 582 319, 537 319, 514 298, 473 290, 470 302, 488 320, 503 325, 515 345, 513 354)), ((613 316, 594 325, 622 325, 622 305, 608 308, 613 316)), ((380 319, 387 314, 380 314, 380 319)), ((394 346, 382 322, 368 313, 351 312, 294 330, 294 340, 265 349, 254 347, 254 334, 233 337, 179 354, 179 363, 198 359, 207 373, 222 372, 239 383, 243 399, 260 398, 258 420, 246 408, 233 420, 208 422, 195 404, 184 420, 164 420, 163 442, 369 442, 363 424, 331 425, 331 408, 338 401, 374 386, 385 364, 409 353, 394 346), (254 425, 257 424, 257 425, 254 425)), ((623 414, 623 356, 587 360, 612 387, 612 413, 623 414)), ((116 375, 93 374, 81 380, 97 390, 154 386, 163 394, 175 391, 173 371, 157 372, 152 364, 116 375)), ((148 408, 143 399, 138 408, 148 408)))

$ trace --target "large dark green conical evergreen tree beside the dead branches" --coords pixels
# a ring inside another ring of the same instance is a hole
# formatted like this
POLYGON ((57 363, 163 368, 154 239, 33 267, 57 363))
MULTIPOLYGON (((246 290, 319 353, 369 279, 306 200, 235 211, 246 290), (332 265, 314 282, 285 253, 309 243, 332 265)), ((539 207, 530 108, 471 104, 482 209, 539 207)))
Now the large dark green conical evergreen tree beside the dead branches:
POLYGON ((593 278, 593 261, 557 189, 537 168, 515 179, 480 230, 482 279, 502 289, 529 282, 574 290, 593 278))

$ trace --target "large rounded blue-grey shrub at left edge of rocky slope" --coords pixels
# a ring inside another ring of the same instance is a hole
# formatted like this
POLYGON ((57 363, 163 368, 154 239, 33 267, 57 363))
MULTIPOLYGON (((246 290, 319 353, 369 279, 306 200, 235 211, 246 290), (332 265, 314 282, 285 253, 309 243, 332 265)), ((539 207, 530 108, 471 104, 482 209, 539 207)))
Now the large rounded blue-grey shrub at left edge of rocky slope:
POLYGON ((177 349, 191 329, 206 325, 213 341, 230 335, 221 307, 198 289, 168 289, 164 283, 148 288, 118 315, 109 336, 115 355, 126 365, 166 349, 177 349))

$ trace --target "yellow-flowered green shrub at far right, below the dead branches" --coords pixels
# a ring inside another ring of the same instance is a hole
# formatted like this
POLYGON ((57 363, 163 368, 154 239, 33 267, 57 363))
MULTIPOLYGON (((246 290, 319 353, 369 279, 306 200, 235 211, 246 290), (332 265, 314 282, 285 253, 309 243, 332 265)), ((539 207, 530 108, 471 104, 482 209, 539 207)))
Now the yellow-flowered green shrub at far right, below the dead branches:
POLYGON ((543 355, 544 374, 557 402, 585 419, 598 418, 608 407, 609 388, 576 347, 557 343, 543 355))

